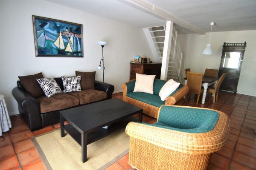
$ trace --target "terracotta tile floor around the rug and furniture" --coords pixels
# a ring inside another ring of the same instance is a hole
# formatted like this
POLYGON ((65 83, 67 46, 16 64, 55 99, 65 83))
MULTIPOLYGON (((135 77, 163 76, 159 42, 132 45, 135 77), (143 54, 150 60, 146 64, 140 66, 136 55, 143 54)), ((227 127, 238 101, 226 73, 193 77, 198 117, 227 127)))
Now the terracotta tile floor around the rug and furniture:
MULTIPOLYGON (((122 99, 122 93, 113 94, 113 98, 122 99)), ((195 97, 184 105, 196 106, 195 97)), ((256 97, 220 91, 218 102, 213 104, 212 97, 207 96, 205 104, 197 107, 223 111, 232 122, 227 143, 212 154, 208 170, 255 170, 256 97)), ((59 128, 59 123, 31 132, 20 116, 12 116, 11 120, 12 130, 4 133, 5 140, 0 142, 0 170, 44 170, 30 138, 59 128)), ((143 115, 143 121, 152 124, 156 119, 143 115)), ((126 154, 107 170, 131 170, 128 157, 126 154)))

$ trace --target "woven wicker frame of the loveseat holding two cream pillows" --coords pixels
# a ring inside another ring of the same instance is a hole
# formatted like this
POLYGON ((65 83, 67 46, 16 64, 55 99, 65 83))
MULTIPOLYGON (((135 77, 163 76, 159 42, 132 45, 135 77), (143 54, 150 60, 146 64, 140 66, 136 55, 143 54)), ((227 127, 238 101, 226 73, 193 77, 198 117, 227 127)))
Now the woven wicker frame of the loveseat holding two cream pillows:
MULTIPOLYGON (((134 81, 135 79, 132 79, 128 82, 125 82, 122 84, 122 89, 123 89, 123 101, 131 103, 132 105, 135 105, 139 108, 143 108, 143 113, 152 116, 154 118, 157 118, 158 115, 158 110, 159 108, 153 105, 149 105, 145 102, 141 102, 140 100, 133 99, 131 97, 127 96, 127 86, 126 84, 129 82, 134 81)), ((175 94, 172 96, 167 97, 165 105, 182 105, 184 102, 183 97, 186 96, 189 92, 189 86, 183 84, 184 86, 180 88, 179 91, 177 91, 175 94)))

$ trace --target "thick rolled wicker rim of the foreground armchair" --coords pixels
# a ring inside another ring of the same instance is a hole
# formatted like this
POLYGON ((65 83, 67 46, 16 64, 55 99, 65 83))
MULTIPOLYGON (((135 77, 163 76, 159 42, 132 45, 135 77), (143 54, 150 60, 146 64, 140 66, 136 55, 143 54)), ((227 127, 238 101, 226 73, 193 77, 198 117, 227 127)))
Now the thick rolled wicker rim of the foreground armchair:
POLYGON ((195 155, 213 153, 225 145, 230 127, 227 115, 219 113, 222 121, 218 121, 217 127, 207 133, 185 133, 137 122, 130 122, 125 132, 132 138, 177 152, 195 155))

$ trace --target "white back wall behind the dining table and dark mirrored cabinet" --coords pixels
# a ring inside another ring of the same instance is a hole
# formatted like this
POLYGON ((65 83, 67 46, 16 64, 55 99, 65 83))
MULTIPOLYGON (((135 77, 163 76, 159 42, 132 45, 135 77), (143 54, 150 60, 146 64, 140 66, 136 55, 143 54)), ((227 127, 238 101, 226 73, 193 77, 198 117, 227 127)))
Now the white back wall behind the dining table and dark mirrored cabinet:
POLYGON ((201 54, 209 41, 209 33, 206 36, 183 34, 179 35, 178 40, 184 57, 184 65, 181 72, 183 77, 185 77, 184 68, 190 68, 193 72, 201 73, 204 73, 205 68, 219 69, 223 43, 246 41, 247 47, 244 52, 237 93, 256 96, 256 30, 212 32, 210 43, 213 55, 201 54))

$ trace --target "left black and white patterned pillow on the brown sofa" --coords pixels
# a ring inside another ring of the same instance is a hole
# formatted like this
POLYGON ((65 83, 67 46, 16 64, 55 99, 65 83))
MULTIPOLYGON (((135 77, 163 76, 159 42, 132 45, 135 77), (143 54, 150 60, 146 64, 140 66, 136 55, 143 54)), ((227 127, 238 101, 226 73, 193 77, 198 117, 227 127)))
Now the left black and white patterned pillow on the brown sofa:
POLYGON ((50 97, 58 93, 62 93, 60 86, 53 77, 36 79, 44 91, 45 96, 50 97))

